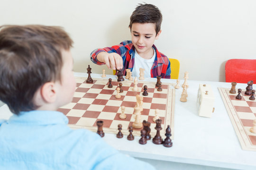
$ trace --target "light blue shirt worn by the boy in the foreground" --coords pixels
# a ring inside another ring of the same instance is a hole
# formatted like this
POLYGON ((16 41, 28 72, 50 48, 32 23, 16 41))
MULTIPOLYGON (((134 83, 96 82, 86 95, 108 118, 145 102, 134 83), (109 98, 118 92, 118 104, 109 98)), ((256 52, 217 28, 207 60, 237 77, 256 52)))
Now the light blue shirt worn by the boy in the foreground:
POLYGON ((58 111, 28 111, 0 121, 0 170, 153 170, 89 130, 73 130, 58 111))

